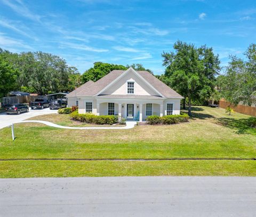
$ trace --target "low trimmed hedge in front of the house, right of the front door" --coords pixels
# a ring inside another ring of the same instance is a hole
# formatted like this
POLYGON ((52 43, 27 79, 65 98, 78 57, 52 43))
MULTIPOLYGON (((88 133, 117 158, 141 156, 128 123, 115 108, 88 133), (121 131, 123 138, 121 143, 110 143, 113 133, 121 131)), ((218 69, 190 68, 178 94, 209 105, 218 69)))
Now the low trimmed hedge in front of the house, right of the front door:
POLYGON ((146 121, 148 124, 178 124, 181 122, 188 122, 189 116, 187 114, 182 115, 166 115, 159 117, 157 115, 148 116, 146 121))

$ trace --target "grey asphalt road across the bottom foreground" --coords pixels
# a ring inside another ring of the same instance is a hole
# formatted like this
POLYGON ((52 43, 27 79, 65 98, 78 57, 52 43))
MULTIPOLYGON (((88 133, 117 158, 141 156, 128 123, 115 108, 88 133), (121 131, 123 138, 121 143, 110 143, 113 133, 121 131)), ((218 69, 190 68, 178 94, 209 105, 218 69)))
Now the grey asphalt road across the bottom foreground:
POLYGON ((0 216, 255 216, 256 178, 0 179, 0 216))

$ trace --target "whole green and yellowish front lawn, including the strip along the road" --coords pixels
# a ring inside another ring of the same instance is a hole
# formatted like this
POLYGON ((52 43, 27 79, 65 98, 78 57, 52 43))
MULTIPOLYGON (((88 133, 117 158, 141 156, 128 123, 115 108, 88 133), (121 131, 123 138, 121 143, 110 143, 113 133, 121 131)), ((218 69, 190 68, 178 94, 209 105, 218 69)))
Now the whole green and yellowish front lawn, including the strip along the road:
MULTIPOLYGON (((38 116, 59 122, 62 115, 38 116), (51 117, 52 116, 52 117, 51 117), (56 119, 58 119, 56 121, 56 119)), ((65 121, 69 122, 65 116, 65 121)), ((256 129, 249 116, 193 107, 189 123, 135 126, 131 130, 67 130, 26 123, 0 130, 1 159, 255 158, 256 129)), ((34 118, 35 119, 35 118, 34 118)), ((64 119, 64 118, 63 118, 64 119)), ((70 123, 69 123, 70 124, 70 123)), ((74 124, 76 125, 76 124, 74 124)), ((105 175, 256 175, 256 160, 9 160, 0 177, 105 175)))

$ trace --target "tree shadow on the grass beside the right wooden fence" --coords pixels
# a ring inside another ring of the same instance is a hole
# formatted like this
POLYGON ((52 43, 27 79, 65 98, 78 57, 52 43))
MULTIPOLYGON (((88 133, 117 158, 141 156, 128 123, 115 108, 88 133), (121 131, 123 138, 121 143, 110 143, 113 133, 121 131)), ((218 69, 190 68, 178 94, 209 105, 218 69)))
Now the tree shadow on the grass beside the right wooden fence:
POLYGON ((256 129, 250 127, 247 122, 248 119, 235 119, 235 118, 216 118, 217 124, 220 124, 222 126, 226 126, 228 128, 231 128, 233 130, 236 130, 237 134, 247 134, 250 133, 252 135, 256 135, 256 129))

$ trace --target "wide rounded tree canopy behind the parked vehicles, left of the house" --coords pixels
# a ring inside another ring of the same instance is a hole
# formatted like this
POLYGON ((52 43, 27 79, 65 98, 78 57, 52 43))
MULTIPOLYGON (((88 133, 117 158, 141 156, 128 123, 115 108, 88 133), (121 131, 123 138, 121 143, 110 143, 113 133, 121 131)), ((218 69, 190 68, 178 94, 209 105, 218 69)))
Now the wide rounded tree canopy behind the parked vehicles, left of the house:
POLYGON ((57 55, 43 52, 11 53, 0 49, 2 65, 10 68, 15 85, 4 83, 6 95, 11 90, 21 90, 38 94, 67 92, 81 85, 80 74, 75 67, 69 67, 66 61, 57 55), (15 72, 19 72, 19 74, 15 72))

